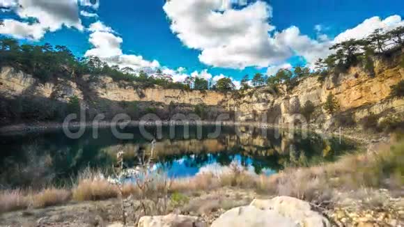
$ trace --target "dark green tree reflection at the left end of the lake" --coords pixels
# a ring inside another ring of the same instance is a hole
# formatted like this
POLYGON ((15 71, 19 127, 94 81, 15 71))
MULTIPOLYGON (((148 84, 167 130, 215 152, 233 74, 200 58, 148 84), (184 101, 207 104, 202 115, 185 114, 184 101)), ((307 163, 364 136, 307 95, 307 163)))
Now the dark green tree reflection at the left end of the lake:
POLYGON ((36 139, 31 144, 13 144, 15 152, 0 159, 0 184, 6 188, 40 188, 49 184, 71 183, 86 167, 109 166, 111 157, 84 140, 36 139))

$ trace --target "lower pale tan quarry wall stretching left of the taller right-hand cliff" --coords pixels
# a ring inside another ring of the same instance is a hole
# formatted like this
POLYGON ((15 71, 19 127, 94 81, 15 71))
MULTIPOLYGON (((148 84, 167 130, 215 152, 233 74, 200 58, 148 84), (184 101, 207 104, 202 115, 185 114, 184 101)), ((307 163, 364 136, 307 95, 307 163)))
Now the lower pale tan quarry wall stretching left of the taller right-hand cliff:
POLYGON ((0 91, 8 96, 38 95, 61 101, 67 101, 73 95, 83 99, 84 92, 91 92, 98 97, 113 101, 162 102, 164 104, 173 102, 211 106, 219 105, 226 97, 224 93, 213 91, 183 91, 158 87, 135 88, 133 83, 116 82, 107 76, 90 79, 89 75, 85 75, 83 79, 88 84, 86 88, 79 88, 75 81, 61 78, 54 82, 40 84, 38 79, 31 75, 10 67, 3 67, 0 72, 0 91), (81 89, 89 89, 89 91, 81 91, 81 89))

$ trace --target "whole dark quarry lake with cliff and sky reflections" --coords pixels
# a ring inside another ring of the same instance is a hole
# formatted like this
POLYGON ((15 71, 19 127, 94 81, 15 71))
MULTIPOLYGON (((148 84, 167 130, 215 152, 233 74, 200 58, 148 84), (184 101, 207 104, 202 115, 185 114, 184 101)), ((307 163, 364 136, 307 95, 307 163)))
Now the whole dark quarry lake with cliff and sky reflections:
MULTIPOLYGON (((157 132, 155 127, 147 130, 157 132)), ((100 129, 98 138, 91 129, 79 139, 69 139, 62 130, 1 136, 0 185, 35 189, 68 181, 86 168, 107 171, 118 164, 121 151, 127 168, 137 166, 140 156, 146 155, 153 160, 153 169, 170 178, 185 178, 221 173, 231 164, 251 174, 270 175, 286 166, 333 162, 355 149, 352 141, 340 143, 338 138, 324 139, 313 133, 222 126, 212 136, 215 130, 216 126, 189 127, 185 136, 182 126, 162 127, 153 146, 137 127, 123 130, 133 134, 132 139, 117 139, 109 128, 100 129)))

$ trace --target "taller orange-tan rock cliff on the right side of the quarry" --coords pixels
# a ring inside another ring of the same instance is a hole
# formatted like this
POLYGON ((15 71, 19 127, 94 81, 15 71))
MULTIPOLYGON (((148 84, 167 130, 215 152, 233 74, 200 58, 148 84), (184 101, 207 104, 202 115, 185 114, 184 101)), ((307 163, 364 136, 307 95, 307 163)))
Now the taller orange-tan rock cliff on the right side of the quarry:
POLYGON ((389 98, 391 86, 403 79, 404 68, 398 63, 378 59, 375 61, 373 77, 362 66, 356 66, 348 72, 329 75, 325 81, 318 81, 318 77, 300 79, 299 84, 288 92, 282 86, 279 91, 270 88, 242 91, 226 100, 224 106, 238 112, 240 120, 261 121, 266 118, 269 123, 278 123, 277 120, 290 123, 307 101, 316 106, 317 116, 323 114, 322 118, 329 118, 323 113, 321 106, 327 95, 332 93, 339 102, 341 111, 350 111, 354 120, 358 121, 370 114, 385 111, 403 113, 404 100, 389 98))

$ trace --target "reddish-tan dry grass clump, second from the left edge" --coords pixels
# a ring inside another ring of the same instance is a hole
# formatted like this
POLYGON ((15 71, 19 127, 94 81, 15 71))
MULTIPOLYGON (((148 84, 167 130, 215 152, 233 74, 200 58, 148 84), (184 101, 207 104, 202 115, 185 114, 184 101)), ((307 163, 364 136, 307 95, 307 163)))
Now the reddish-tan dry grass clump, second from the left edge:
POLYGON ((67 189, 49 188, 32 196, 33 208, 46 208, 70 201, 71 192, 67 189))

